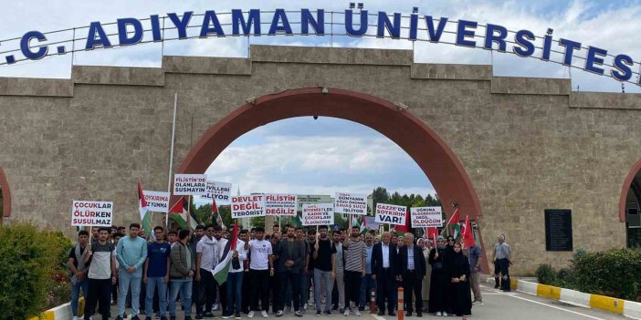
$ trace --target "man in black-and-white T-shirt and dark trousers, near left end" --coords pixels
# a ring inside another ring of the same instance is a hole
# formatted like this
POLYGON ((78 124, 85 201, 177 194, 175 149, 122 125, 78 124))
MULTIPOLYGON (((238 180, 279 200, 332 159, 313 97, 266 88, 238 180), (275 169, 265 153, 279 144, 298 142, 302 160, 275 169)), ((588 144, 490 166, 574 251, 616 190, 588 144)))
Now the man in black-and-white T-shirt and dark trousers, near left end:
POLYGON ((111 285, 116 283, 116 251, 113 244, 109 243, 110 228, 98 229, 98 240, 87 243, 82 261, 89 265, 87 301, 85 302, 84 318, 89 320, 93 315, 93 308, 100 300, 100 315, 109 319, 111 285))

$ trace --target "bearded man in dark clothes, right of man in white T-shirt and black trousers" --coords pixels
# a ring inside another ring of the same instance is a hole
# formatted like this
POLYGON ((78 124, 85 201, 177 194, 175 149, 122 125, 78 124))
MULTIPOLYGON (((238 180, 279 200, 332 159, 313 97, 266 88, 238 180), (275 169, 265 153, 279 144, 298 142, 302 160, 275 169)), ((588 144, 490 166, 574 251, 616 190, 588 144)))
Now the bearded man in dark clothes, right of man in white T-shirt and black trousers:
POLYGON ((300 312, 300 276, 299 274, 305 268, 305 243, 296 239, 294 227, 287 227, 287 238, 278 242, 274 251, 274 256, 278 257, 276 272, 280 279, 280 293, 278 294, 278 312, 277 317, 283 316, 283 307, 285 305, 284 293, 287 291, 288 284, 291 284, 292 299, 294 301, 294 315, 302 316, 300 312))

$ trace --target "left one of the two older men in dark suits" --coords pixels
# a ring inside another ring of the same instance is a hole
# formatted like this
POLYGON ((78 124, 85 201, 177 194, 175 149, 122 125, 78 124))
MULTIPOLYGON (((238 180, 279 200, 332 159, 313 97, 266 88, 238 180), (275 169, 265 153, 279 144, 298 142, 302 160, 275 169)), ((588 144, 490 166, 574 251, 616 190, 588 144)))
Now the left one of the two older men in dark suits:
MULTIPOLYGON (((396 246, 390 243, 390 232, 384 232, 381 243, 373 246, 372 277, 376 280, 376 305, 378 315, 385 314, 387 301, 388 315, 395 316, 396 305, 396 246)), ((423 256, 423 254, 421 254, 423 256)))

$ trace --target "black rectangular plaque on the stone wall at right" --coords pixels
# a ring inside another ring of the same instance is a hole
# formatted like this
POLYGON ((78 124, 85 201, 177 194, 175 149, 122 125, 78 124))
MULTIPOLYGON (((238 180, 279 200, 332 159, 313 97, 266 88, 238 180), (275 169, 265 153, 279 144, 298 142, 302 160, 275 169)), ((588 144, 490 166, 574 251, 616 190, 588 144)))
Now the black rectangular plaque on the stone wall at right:
POLYGON ((573 251, 572 210, 545 210, 545 250, 573 251))

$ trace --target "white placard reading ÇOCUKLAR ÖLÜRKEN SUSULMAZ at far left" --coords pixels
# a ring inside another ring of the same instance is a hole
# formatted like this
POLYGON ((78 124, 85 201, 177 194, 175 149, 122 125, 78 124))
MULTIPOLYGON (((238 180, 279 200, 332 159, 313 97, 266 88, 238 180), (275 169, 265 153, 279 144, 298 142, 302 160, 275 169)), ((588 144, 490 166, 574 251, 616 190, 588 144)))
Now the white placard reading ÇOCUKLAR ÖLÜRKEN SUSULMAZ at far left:
POLYGON ((73 201, 71 225, 110 227, 113 221, 112 201, 73 201))

